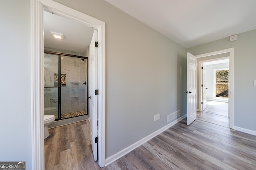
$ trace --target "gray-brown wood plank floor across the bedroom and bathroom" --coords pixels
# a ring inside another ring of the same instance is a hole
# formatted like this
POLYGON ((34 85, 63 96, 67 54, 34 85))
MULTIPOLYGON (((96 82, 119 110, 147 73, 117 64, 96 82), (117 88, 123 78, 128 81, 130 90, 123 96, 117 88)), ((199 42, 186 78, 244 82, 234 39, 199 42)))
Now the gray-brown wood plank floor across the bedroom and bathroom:
MULTIPOLYGON (((255 170, 256 136, 198 119, 183 119, 142 146, 100 168, 94 162, 89 122, 49 129, 46 170, 255 170)), ((210 115, 218 115, 211 113, 210 115)))

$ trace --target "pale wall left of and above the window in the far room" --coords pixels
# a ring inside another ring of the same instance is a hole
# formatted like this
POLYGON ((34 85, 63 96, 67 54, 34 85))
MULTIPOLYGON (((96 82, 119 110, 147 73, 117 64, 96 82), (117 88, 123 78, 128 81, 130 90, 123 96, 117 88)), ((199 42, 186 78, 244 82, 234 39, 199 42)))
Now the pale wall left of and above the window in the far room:
MULTIPOLYGON (((220 63, 220 64, 211 64, 206 66, 206 86, 207 86, 207 92, 206 92, 206 98, 207 100, 213 99, 213 78, 214 78, 214 69, 218 68, 228 68, 228 63, 220 63)), ((216 100, 216 99, 215 99, 216 100)))

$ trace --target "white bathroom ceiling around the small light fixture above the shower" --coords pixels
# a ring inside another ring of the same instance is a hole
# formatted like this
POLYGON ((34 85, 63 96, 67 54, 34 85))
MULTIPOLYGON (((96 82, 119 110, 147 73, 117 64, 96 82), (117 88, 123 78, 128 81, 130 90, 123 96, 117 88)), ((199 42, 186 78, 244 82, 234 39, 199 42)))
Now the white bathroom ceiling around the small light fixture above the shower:
POLYGON ((44 47, 84 53, 93 31, 91 27, 44 11, 44 47), (51 31, 62 33, 64 38, 52 37, 51 31))

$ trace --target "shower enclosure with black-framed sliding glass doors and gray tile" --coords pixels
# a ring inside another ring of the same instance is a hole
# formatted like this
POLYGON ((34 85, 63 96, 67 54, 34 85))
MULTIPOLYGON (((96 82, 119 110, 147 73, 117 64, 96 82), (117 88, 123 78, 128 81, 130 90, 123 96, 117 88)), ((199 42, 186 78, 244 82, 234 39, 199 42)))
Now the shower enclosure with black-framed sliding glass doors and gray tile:
POLYGON ((88 114, 88 58, 44 52, 44 115, 56 120, 88 114))

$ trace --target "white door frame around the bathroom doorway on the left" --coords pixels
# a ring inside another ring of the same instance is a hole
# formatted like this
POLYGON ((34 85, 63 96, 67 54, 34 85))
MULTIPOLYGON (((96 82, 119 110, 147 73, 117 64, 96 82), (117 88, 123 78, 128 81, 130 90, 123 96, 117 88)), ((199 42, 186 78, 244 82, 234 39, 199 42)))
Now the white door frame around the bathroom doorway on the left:
POLYGON ((32 169, 44 169, 43 12, 53 12, 98 30, 98 164, 105 166, 105 22, 52 0, 30 0, 32 169))

